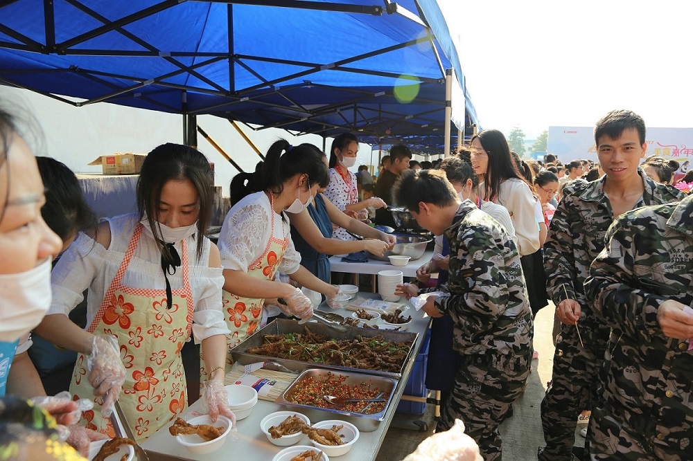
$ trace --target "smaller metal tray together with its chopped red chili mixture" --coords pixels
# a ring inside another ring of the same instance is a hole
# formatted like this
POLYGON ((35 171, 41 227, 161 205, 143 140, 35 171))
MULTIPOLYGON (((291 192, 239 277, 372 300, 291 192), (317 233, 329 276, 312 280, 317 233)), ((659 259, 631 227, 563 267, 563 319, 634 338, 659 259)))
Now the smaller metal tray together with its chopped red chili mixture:
POLYGON ((374 374, 337 372, 308 369, 301 372, 277 399, 277 404, 296 408, 310 421, 338 419, 351 422, 361 431, 375 431, 378 422, 385 419, 385 412, 392 401, 397 381, 374 374), (375 399, 384 401, 349 402, 329 404, 324 395, 338 399, 375 399))

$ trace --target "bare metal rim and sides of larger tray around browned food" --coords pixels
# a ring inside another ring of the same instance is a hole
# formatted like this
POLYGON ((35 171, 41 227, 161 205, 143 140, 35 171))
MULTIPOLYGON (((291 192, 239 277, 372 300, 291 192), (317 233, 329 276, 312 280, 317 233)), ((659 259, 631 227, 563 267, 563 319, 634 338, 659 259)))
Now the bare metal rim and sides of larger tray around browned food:
POLYGON ((248 336, 243 343, 240 343, 233 349, 231 349, 231 355, 234 357, 234 361, 240 363, 241 365, 248 365, 249 363, 257 363, 263 361, 273 361, 277 362, 289 370, 295 372, 302 372, 308 368, 326 368, 328 370, 339 370, 341 372, 359 372, 367 374, 376 374, 378 376, 385 376, 391 378, 400 378, 402 376, 402 371, 407 365, 407 362, 412 358, 412 350, 414 344, 416 344, 416 338, 419 336, 418 333, 412 332, 397 332, 387 329, 371 329, 371 328, 358 328, 358 327, 346 327, 346 332, 336 332, 327 325, 322 323, 306 323, 304 325, 299 325, 297 320, 287 320, 286 318, 277 318, 272 320, 271 323, 265 325, 263 329, 258 330, 251 336, 248 336), (366 338, 373 338, 374 336, 383 336, 387 341, 411 341, 412 345, 409 347, 409 352, 407 352, 407 357, 405 358, 399 372, 385 372, 378 370, 366 370, 364 368, 347 368, 339 365, 326 365, 324 363, 317 362, 304 362, 291 359, 278 359, 276 357, 250 354, 246 352, 253 347, 260 347, 264 343, 264 338, 266 334, 287 334, 287 333, 303 333, 304 327, 308 327, 311 332, 326 334, 327 336, 334 338, 336 340, 342 339, 353 339, 356 336, 364 336, 366 338))

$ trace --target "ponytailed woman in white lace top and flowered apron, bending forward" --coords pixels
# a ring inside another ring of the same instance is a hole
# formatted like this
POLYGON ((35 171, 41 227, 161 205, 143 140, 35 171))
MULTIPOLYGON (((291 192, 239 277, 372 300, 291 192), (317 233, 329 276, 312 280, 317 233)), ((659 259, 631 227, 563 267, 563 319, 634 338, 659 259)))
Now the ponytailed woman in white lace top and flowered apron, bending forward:
MULTIPOLYGON (((301 213, 330 179, 317 147, 292 147, 283 139, 267 151, 254 173, 231 181, 231 210, 224 220, 218 246, 224 266, 224 314, 231 330, 229 349, 261 327, 263 300, 280 298, 286 311, 300 318, 313 315, 310 300, 288 283, 274 282, 277 271, 327 296, 337 287, 315 278, 300 265, 286 213, 301 213)), ((202 365, 203 374, 207 365, 202 365)), ((230 367, 230 365, 229 365, 230 367)))

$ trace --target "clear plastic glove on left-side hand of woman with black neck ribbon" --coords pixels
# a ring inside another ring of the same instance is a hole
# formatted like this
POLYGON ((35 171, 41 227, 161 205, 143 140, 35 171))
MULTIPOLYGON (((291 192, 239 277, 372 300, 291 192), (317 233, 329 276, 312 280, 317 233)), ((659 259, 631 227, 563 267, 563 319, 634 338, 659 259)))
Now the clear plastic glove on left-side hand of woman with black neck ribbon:
POLYGON ((94 386, 94 395, 103 395, 101 414, 109 417, 113 404, 123 389, 125 367, 121 361, 118 343, 113 336, 91 338, 91 353, 87 357, 89 383, 94 386))

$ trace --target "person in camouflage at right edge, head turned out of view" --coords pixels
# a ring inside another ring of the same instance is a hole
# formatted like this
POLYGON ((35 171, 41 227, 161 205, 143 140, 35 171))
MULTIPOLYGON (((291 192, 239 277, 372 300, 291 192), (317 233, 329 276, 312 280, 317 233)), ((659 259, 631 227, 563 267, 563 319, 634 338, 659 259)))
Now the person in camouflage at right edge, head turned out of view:
POLYGON ((592 460, 693 459, 693 196, 622 215, 585 283, 611 327, 592 460))

